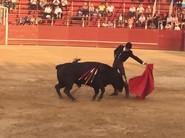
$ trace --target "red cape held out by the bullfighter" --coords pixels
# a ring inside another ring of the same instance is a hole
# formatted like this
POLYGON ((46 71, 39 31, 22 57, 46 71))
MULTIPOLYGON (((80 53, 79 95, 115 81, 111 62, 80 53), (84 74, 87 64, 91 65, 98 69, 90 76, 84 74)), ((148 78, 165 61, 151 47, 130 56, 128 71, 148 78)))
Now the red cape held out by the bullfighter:
POLYGON ((154 90, 153 64, 147 64, 141 76, 129 80, 129 91, 136 97, 145 98, 154 90))

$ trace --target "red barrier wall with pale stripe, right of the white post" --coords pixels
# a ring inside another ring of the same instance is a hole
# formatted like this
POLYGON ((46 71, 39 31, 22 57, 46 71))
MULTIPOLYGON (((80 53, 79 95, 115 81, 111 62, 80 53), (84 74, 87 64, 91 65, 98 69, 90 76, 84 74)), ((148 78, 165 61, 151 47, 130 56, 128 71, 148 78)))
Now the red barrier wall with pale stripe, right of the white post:
POLYGON ((115 47, 131 41, 135 48, 184 50, 184 32, 126 28, 9 26, 9 44, 115 47))

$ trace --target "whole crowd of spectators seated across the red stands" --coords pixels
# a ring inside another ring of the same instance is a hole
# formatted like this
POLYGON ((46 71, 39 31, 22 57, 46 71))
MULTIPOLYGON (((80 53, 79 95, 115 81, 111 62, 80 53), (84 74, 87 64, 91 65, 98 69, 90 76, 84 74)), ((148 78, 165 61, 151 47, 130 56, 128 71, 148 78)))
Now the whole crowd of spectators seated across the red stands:
MULTIPOLYGON (((71 2, 71 1, 70 1, 71 2)), ((16 0, 4 0, 4 6, 15 9, 16 0)), ((17 24, 39 24, 42 20, 48 19, 52 22, 55 19, 63 18, 63 11, 73 10, 71 3, 67 0, 30 0, 29 10, 40 10, 41 16, 17 17, 17 24), (70 8, 69 8, 70 7, 70 8)), ((128 9, 125 4, 121 8, 115 7, 114 2, 101 1, 95 5, 93 2, 84 2, 77 10, 71 11, 71 20, 80 20, 82 23, 93 23, 98 27, 127 27, 145 29, 173 29, 185 28, 185 9, 181 1, 174 4, 172 14, 153 11, 153 3, 144 5, 142 1, 131 2, 128 9)), ((84 26, 84 24, 83 24, 84 26)))

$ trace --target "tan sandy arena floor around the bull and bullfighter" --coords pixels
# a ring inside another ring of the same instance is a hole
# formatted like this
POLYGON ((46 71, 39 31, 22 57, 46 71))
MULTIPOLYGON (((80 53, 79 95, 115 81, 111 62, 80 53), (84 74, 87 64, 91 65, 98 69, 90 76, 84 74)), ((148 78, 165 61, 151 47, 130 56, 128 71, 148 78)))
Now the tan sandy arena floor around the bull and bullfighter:
MULTIPOLYGON (((154 64, 155 90, 145 100, 124 91, 92 102, 90 87, 77 89, 71 102, 55 92, 55 65, 82 61, 113 62, 111 48, 9 46, 0 47, 0 138, 184 138, 185 53, 133 50, 154 64)), ((128 78, 145 66, 132 59, 128 78)))

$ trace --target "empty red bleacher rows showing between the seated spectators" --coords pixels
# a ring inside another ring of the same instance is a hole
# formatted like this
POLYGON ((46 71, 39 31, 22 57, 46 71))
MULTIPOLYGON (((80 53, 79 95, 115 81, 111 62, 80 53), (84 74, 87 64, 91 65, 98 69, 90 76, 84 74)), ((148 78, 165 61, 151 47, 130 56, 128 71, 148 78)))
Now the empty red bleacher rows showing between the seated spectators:
MULTIPOLYGON (((50 0, 51 1, 51 0, 50 0)), ((90 0, 89 0, 90 1, 90 0)), ((100 4, 100 0, 91 0, 90 2, 87 0, 69 0, 68 1, 68 8, 63 11, 63 18, 62 19, 55 19, 52 23, 54 25, 70 25, 74 24, 75 22, 70 21, 71 17, 77 14, 77 11, 80 7, 82 7, 84 2, 88 3, 93 3, 95 7, 97 7, 100 4)), ((108 0, 108 3, 111 3, 115 7, 114 15, 112 16, 112 21, 114 19, 117 19, 119 14, 122 13, 123 11, 125 13, 128 12, 128 9, 131 4, 138 5, 138 1, 130 1, 130 0, 125 0, 124 2, 122 0, 108 0)), ((148 0, 144 0, 142 2, 144 7, 147 7, 147 5, 153 5, 152 2, 148 2, 148 0)), ((160 8, 160 14, 163 13, 168 13, 169 10, 169 2, 161 2, 160 4, 158 3, 158 9, 160 8)), ((25 17, 25 16, 34 16, 34 17, 42 17, 43 15, 43 10, 40 10, 37 8, 37 10, 30 10, 29 9, 29 0, 19 0, 17 2, 16 9, 10 11, 9 13, 9 23, 10 24, 16 24, 18 18, 25 17)), ((88 20, 89 21, 89 20, 88 20)), ((51 22, 50 22, 51 23, 51 22)), ((49 25, 50 25, 49 23, 49 25)), ((92 19, 90 23, 86 23, 90 26, 97 26, 98 20, 97 19, 92 19)), ((42 22, 42 25, 48 25, 47 21, 42 22)), ((78 24, 78 22, 76 23, 78 24)), ((82 21, 79 22, 79 24, 82 24, 82 21)))

